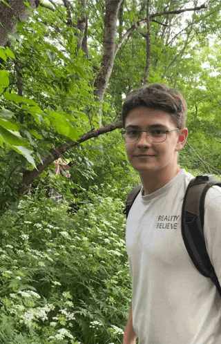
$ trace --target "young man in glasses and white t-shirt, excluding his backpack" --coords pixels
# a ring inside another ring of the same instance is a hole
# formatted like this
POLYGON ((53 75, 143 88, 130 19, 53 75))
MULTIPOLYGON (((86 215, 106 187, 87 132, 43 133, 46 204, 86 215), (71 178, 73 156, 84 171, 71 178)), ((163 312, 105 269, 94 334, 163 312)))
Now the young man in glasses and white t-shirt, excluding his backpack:
MULTIPOLYGON (((125 100, 122 120, 128 161, 141 192, 126 222, 132 302, 123 344, 219 344, 221 298, 195 268, 182 238, 182 202, 193 178, 177 163, 186 143, 186 102, 151 84, 125 100)), ((206 248, 221 283, 221 189, 206 193, 206 248)))

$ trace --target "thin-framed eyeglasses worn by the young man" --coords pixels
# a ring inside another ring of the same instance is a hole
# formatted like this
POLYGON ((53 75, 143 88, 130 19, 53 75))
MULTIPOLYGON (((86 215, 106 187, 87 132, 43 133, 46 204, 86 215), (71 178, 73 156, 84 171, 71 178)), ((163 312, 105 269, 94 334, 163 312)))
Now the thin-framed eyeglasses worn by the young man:
POLYGON ((164 128, 151 128, 148 131, 139 131, 134 128, 128 128, 125 131, 122 131, 121 134, 125 142, 135 143, 140 139, 141 133, 144 132, 151 142, 159 143, 166 141, 167 133, 175 130, 180 130, 180 128, 175 128, 172 130, 166 130, 164 128))

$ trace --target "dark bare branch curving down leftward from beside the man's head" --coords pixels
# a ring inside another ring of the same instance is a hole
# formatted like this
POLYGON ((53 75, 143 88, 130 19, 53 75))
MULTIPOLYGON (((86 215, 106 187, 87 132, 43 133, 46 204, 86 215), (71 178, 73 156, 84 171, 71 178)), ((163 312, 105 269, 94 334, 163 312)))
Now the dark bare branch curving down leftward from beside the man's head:
POLYGON ((103 135, 104 133, 109 133, 111 131, 115 131, 117 128, 123 128, 122 121, 115 122, 104 126, 103 128, 93 129, 88 133, 81 135, 80 139, 77 142, 69 141, 68 144, 63 144, 59 147, 59 149, 52 149, 50 151, 50 155, 46 158, 43 164, 38 164, 37 169, 33 169, 32 171, 23 170, 23 180, 21 182, 21 186, 19 188, 19 195, 22 195, 24 191, 26 191, 28 185, 32 184, 32 182, 48 167, 52 162, 58 159, 58 157, 68 151, 69 149, 79 146, 82 142, 90 140, 92 137, 98 137, 99 135, 103 135))

